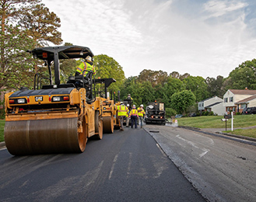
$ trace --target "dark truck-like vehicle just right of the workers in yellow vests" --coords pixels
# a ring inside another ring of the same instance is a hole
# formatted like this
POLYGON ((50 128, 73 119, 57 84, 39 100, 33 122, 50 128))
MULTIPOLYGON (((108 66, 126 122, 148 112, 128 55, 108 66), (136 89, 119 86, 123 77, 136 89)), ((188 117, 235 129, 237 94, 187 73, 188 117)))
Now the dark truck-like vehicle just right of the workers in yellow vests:
POLYGON ((145 113, 146 124, 166 124, 164 103, 149 103, 145 113))

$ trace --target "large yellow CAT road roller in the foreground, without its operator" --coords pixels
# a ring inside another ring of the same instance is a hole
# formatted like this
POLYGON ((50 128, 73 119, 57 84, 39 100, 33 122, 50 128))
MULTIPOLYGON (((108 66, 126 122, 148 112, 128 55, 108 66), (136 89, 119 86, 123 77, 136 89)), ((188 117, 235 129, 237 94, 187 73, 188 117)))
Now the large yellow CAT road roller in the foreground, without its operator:
POLYGON ((4 133, 9 153, 82 152, 88 138, 102 139, 103 106, 108 102, 93 96, 93 72, 70 76, 64 84, 60 82, 59 60, 93 57, 93 52, 88 47, 59 46, 39 47, 30 53, 44 61, 49 77, 35 75, 33 89, 21 88, 5 94, 4 133), (41 85, 42 79, 47 79, 47 85, 41 85))

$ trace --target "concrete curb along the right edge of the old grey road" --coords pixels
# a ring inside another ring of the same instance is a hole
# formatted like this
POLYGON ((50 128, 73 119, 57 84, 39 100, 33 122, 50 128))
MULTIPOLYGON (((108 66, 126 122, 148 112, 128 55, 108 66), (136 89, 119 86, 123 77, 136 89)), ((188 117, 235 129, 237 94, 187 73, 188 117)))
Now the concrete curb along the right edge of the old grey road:
MULTIPOLYGON (((180 127, 180 126, 179 126, 180 127)), ((256 138, 249 138, 249 137, 244 137, 244 136, 240 136, 237 134, 228 134, 228 133, 223 133, 223 132, 216 132, 216 133, 211 133, 208 131, 202 131, 202 128, 198 128, 198 127, 184 127, 181 126, 181 128, 187 129, 187 130, 191 130, 191 131, 197 131, 199 133, 203 133, 203 134, 209 134, 209 135, 213 135, 219 138, 225 138, 225 139, 229 139, 229 140, 233 140, 233 141, 238 141, 247 145, 254 145, 256 146, 256 138)))

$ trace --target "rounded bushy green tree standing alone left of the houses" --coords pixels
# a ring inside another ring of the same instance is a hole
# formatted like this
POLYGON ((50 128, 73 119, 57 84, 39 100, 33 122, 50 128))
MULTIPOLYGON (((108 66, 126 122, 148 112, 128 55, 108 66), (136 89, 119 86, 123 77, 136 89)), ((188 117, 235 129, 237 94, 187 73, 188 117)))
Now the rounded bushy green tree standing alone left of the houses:
POLYGON ((195 103, 195 95, 193 92, 183 90, 181 92, 175 92, 170 98, 170 106, 176 110, 177 113, 185 114, 188 107, 195 103))

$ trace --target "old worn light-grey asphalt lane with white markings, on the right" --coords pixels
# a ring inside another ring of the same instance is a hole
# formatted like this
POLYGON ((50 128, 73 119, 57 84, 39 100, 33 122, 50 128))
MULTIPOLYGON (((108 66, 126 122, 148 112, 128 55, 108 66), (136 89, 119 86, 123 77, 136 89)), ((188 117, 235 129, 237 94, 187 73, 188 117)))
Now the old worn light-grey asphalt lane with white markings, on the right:
POLYGON ((146 131, 209 201, 256 201, 256 146, 177 127, 146 131))

